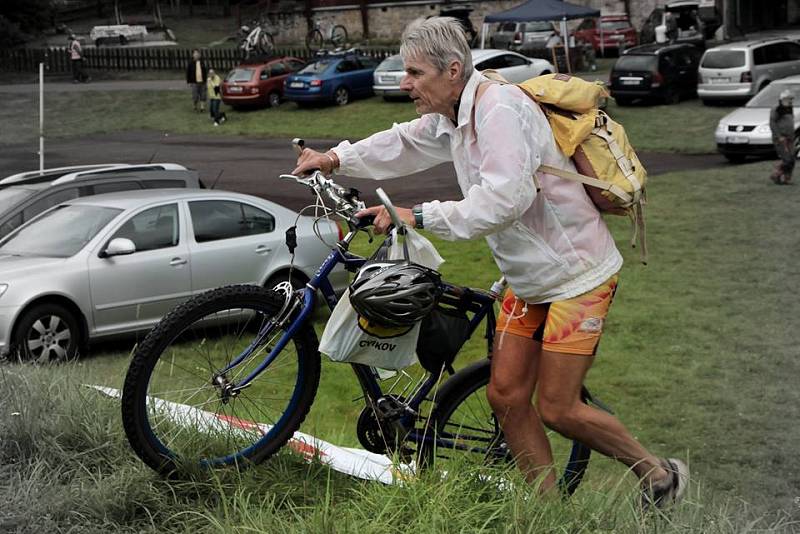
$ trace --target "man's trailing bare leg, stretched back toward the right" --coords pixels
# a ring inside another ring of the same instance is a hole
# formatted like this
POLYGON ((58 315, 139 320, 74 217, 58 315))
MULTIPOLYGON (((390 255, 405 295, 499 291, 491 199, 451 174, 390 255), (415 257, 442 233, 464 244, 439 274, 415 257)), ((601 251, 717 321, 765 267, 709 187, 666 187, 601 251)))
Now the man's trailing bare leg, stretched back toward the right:
POLYGON ((662 480, 668 473, 660 460, 636 441, 619 419, 581 402, 581 385, 593 361, 593 356, 541 351, 537 397, 544 424, 621 461, 640 479, 662 480))

